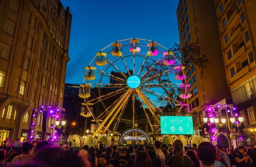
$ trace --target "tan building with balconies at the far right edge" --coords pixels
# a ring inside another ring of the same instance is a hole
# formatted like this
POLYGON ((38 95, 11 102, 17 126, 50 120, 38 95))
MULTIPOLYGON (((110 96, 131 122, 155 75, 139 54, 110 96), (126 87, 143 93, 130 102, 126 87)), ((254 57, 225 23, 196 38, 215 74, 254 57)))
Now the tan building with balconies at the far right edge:
POLYGON ((244 117, 246 140, 256 141, 256 1, 215 0, 228 87, 244 117))

